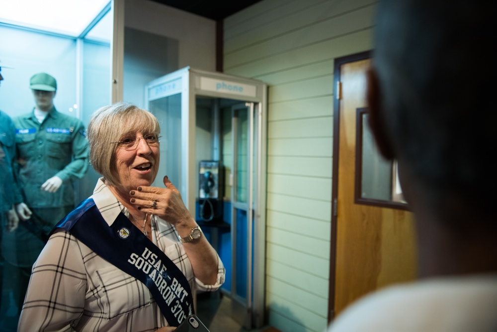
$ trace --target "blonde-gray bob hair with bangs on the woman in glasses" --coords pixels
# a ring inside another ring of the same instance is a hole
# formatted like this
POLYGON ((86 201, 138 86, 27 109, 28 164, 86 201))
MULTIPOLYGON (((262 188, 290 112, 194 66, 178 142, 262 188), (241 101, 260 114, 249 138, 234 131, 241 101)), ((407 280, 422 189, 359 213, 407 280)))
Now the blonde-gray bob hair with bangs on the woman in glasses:
POLYGON ((135 133, 159 133, 159 121, 149 111, 127 103, 116 103, 93 112, 87 129, 90 163, 114 186, 121 181, 116 167, 117 142, 135 133))

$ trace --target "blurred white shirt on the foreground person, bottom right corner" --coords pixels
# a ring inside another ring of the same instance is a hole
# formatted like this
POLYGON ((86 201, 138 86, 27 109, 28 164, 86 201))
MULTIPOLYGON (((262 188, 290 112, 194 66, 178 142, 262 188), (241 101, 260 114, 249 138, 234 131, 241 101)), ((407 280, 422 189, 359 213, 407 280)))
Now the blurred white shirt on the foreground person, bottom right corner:
POLYGON ((328 332, 496 332, 497 275, 432 278, 375 292, 328 332))

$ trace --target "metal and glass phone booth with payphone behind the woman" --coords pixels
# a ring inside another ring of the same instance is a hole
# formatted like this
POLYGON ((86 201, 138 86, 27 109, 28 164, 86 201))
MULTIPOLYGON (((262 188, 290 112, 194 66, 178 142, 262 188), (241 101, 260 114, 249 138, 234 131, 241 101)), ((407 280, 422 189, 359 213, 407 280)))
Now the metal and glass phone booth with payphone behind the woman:
POLYGON ((150 82, 161 165, 226 267, 223 293, 246 328, 264 319, 266 104, 261 81, 190 67, 150 82))

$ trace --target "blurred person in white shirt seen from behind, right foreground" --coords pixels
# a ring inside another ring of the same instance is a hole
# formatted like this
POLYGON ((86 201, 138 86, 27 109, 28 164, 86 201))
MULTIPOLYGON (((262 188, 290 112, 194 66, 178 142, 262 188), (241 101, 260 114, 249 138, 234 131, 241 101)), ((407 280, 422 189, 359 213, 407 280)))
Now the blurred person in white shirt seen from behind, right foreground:
POLYGON ((421 280, 357 301, 331 332, 497 331, 496 8, 379 1, 369 124, 398 162, 421 280))

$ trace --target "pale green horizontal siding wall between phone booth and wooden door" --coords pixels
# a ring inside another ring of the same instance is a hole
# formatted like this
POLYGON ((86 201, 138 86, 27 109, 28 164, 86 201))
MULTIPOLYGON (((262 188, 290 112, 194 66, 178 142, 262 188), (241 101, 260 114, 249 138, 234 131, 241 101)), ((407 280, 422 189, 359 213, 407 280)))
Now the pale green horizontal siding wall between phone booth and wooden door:
POLYGON ((283 332, 327 327, 333 59, 370 50, 376 0, 263 0, 224 21, 224 71, 269 85, 266 306, 283 332))

